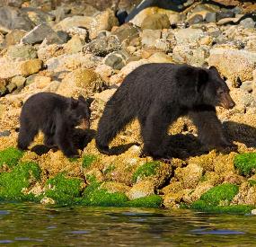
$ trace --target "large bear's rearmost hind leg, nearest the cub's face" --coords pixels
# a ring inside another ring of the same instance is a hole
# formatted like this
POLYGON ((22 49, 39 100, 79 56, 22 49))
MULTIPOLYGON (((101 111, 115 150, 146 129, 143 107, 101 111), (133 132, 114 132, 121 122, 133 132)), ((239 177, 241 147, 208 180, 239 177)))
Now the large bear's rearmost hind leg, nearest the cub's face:
POLYGON ((110 154, 110 141, 135 117, 135 109, 128 101, 112 98, 107 102, 96 135, 96 146, 102 154, 110 154))

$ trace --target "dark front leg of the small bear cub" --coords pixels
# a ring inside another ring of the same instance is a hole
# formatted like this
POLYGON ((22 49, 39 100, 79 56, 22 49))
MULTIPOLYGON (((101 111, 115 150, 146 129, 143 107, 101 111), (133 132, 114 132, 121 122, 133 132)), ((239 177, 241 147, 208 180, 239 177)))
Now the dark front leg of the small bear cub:
POLYGON ((57 122, 56 133, 54 135, 54 142, 57 147, 67 156, 67 157, 77 157, 79 156, 77 149, 72 141, 72 128, 68 128, 66 124, 59 120, 57 122))

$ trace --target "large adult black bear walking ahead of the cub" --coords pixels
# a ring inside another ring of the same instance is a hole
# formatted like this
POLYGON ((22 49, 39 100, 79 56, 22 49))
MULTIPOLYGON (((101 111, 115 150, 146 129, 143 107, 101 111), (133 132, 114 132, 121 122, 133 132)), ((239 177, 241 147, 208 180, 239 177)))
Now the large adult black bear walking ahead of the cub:
POLYGON ((216 67, 209 69, 173 64, 146 64, 132 71, 112 95, 99 121, 96 145, 110 154, 110 141, 128 122, 137 118, 144 141, 143 154, 169 159, 167 129, 190 115, 207 146, 232 146, 216 117, 216 106, 234 107, 229 89, 216 67))

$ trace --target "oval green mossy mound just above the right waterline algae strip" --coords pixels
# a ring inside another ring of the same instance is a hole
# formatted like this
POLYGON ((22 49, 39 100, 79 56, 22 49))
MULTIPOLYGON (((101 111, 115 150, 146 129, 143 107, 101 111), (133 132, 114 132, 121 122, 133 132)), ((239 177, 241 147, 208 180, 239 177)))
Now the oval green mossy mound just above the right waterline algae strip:
POLYGON ((208 205, 218 206, 220 203, 229 203, 238 193, 238 186, 231 183, 224 183, 207 190, 200 199, 208 205))

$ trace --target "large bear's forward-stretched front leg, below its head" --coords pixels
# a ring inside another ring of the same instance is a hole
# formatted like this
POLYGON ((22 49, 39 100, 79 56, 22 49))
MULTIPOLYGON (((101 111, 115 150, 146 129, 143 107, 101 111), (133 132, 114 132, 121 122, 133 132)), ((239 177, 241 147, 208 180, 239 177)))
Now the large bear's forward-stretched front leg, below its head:
POLYGON ((199 140, 207 148, 216 148, 218 151, 237 148, 225 138, 216 110, 191 111, 190 117, 198 128, 199 140))

